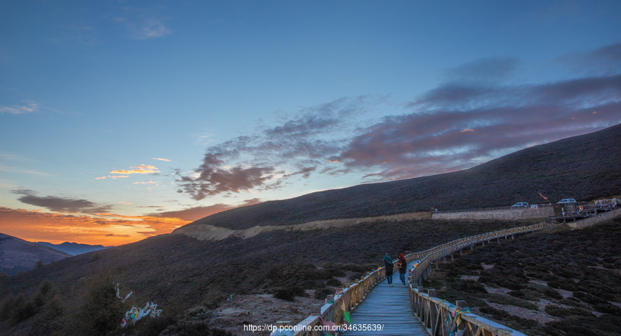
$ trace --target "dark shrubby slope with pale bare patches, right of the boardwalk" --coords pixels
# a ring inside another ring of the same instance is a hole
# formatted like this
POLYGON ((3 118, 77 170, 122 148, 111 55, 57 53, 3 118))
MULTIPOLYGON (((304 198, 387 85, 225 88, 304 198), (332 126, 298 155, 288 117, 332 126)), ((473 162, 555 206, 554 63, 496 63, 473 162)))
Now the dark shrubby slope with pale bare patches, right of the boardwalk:
POLYGON ((621 218, 501 242, 455 255, 424 286, 526 335, 621 335, 621 218))

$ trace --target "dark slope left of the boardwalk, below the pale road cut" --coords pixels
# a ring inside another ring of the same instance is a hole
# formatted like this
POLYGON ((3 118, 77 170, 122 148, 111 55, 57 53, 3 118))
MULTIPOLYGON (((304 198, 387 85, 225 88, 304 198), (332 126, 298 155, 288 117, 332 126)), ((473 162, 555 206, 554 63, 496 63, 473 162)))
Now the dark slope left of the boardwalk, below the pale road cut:
MULTIPOLYGON (((93 296, 105 296, 93 293, 93 287, 108 286, 105 293, 112 297, 103 300, 108 305, 102 304, 100 308, 108 307, 103 310, 116 314, 117 319, 112 321, 115 323, 110 324, 110 328, 102 327, 101 333, 93 331, 94 328, 82 331, 89 335, 116 335, 117 332, 128 333, 116 327, 130 304, 144 306, 147 301, 155 302, 168 316, 168 322, 162 323, 175 324, 179 314, 188 308, 214 308, 230 294, 275 293, 290 298, 289 295, 299 295, 305 288, 333 292, 343 285, 337 278, 359 279, 364 272, 380 266, 386 252, 420 251, 464 235, 521 224, 432 220, 374 222, 343 229, 262 233, 246 240, 228 238, 218 242, 199 241, 186 235, 159 235, 134 244, 77 255, 0 280, 0 297, 14 298, 21 294, 23 302, 27 303, 28 298, 41 296, 41 284, 51 282, 57 304, 63 303, 61 308, 55 306, 53 312, 59 317, 52 319, 55 322, 52 324, 59 326, 60 335, 68 335, 67 328, 95 324, 90 316, 81 313, 83 305, 93 296), (123 308, 116 306, 119 300, 114 300, 112 282, 121 284, 123 295, 129 291, 134 293, 123 308)), ((24 329, 41 333, 41 320, 51 323, 50 317, 43 318, 51 315, 47 303, 31 306, 30 311, 14 316, 4 307, 6 302, 0 302, 0 321, 3 314, 6 317, 0 322, 0 333, 19 335, 17 332, 24 329)), ((15 306, 14 301, 12 303, 15 306)))

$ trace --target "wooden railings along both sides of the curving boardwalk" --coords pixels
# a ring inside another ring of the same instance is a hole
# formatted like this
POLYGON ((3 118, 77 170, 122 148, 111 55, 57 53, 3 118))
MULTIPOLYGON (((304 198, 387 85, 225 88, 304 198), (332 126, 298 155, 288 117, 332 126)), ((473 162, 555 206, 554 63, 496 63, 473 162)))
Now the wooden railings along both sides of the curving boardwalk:
MULTIPOLYGON (((435 295, 435 289, 427 289, 427 293, 423 293, 425 291, 424 288, 417 286, 417 284, 422 283, 422 279, 426 279, 426 276, 431 273, 432 262, 436 262, 437 266, 437 261, 440 260, 440 258, 446 258, 448 255, 452 256, 452 253, 456 251, 461 251, 466 247, 473 249, 474 244, 485 244, 485 242, 491 242, 493 239, 500 243, 500 238, 504 237, 507 239, 511 236, 511 239, 513 239, 513 235, 515 234, 534 232, 553 225, 554 224, 550 222, 540 222, 524 227, 482 233, 480 235, 453 240, 452 242, 435 246, 426 251, 406 255, 408 263, 414 260, 420 260, 409 275, 409 293, 414 315, 420 319, 428 333, 432 336, 449 335, 449 326, 452 326, 453 322, 455 322, 455 317, 453 317, 455 313, 460 313, 459 316, 462 321, 458 326, 461 331, 455 335, 525 336, 516 330, 497 324, 489 319, 485 319, 473 313, 464 313, 464 311, 460 311, 460 308, 465 308, 466 302, 458 301, 457 304, 461 305, 461 307, 457 307, 449 302, 433 297, 433 295, 435 295), (449 324, 446 323, 447 321, 449 324)), ((289 333, 289 335, 322 335, 321 331, 315 328, 322 324, 322 319, 324 319, 324 321, 333 322, 337 326, 342 326, 344 324, 344 312, 351 312, 353 308, 361 304, 368 292, 373 289, 373 286, 381 282, 384 277, 386 277, 386 272, 384 267, 382 267, 381 269, 371 272, 366 277, 362 277, 355 284, 346 284, 346 287, 338 295, 328 295, 326 304, 323 306, 319 304, 313 305, 311 315, 306 317, 302 322, 299 322, 299 324, 289 326, 288 322, 276 322, 275 325, 293 331, 289 333)))

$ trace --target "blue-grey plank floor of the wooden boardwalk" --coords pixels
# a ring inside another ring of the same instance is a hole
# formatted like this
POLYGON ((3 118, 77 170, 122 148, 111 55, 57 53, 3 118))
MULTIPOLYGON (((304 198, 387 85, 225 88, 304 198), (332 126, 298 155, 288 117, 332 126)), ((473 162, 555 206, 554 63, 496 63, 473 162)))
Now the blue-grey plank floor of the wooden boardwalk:
MULTIPOLYGON (((408 264, 408 271, 413 264, 414 262, 408 264)), ((362 304, 352 311, 351 317, 353 324, 358 326, 379 324, 382 330, 348 330, 341 335, 429 336, 419 319, 414 317, 408 287, 402 287, 399 273, 393 275, 393 287, 388 286, 386 279, 377 284, 362 304)))

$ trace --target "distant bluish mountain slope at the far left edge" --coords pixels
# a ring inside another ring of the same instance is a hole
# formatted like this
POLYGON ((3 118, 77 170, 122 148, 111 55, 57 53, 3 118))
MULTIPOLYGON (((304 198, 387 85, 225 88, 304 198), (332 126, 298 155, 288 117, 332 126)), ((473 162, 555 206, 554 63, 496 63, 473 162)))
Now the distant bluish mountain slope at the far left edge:
POLYGON ((20 271, 34 269, 39 261, 49 264, 70 256, 69 253, 48 246, 0 233, 0 273, 15 275, 20 271))

